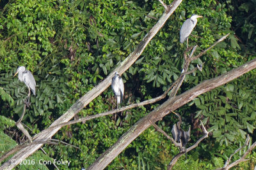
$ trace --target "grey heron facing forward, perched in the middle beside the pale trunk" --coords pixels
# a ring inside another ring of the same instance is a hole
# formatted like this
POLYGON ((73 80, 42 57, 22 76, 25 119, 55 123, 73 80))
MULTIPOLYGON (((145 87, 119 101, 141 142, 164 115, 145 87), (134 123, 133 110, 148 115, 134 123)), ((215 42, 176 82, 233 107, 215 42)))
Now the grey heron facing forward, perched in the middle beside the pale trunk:
POLYGON ((117 72, 112 78, 111 87, 116 97, 116 109, 118 109, 118 104, 122 102, 124 97, 124 82, 117 72))

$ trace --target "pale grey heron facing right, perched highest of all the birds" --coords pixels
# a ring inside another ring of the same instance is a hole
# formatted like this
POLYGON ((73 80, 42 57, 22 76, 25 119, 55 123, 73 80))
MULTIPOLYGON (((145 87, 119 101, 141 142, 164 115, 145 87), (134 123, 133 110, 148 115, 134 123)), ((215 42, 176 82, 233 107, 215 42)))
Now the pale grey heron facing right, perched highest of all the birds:
POLYGON ((197 19, 202 18, 200 15, 193 14, 190 18, 188 18, 183 24, 180 29, 180 43, 183 43, 187 39, 187 48, 188 48, 188 36, 193 31, 194 27, 196 26, 197 19))

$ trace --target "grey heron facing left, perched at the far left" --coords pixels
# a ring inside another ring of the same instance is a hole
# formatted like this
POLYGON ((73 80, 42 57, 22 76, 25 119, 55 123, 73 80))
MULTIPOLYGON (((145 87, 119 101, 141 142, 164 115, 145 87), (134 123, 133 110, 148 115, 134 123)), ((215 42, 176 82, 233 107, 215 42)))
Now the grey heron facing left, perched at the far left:
POLYGON ((25 83, 25 85, 28 87, 28 101, 26 101, 26 105, 29 105, 29 97, 30 97, 30 90, 33 92, 34 96, 36 96, 36 81, 35 78, 33 77, 32 73, 28 70, 26 70, 26 68, 24 66, 20 66, 17 69, 17 72, 14 74, 14 76, 16 76, 16 74, 18 74, 18 78, 20 81, 23 81, 25 83))

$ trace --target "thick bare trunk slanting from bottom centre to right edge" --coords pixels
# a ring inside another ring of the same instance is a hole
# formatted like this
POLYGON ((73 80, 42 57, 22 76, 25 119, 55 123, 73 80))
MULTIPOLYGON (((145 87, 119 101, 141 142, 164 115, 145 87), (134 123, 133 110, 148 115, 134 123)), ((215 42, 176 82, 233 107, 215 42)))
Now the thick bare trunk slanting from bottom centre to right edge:
POLYGON ((212 78, 210 80, 205 80, 204 82, 196 85, 192 89, 180 94, 179 96, 172 97, 168 101, 164 102, 158 106, 154 111, 148 113, 145 117, 141 118, 136 124, 134 124, 129 131, 125 132, 116 143, 111 146, 106 152, 104 152, 95 162, 88 167, 88 169, 104 169, 108 164, 115 159, 134 139, 136 139, 145 129, 150 127, 150 125, 158 120, 161 120, 170 111, 174 111, 180 106, 188 103, 189 101, 195 99, 195 97, 205 92, 224 85, 231 80, 251 71, 256 68, 256 59, 243 64, 243 66, 232 69, 221 76, 212 78))

